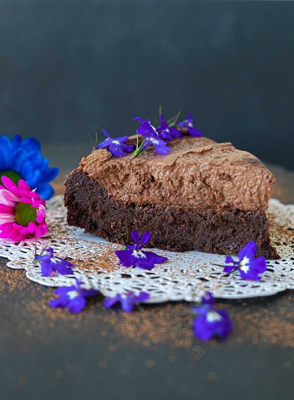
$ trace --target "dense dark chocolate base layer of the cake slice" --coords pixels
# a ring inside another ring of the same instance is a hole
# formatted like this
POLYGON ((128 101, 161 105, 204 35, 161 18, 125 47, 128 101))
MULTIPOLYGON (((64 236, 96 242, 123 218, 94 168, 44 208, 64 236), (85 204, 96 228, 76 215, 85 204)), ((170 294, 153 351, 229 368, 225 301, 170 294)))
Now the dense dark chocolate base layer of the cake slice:
POLYGON ((184 205, 122 202, 110 196, 81 167, 67 177, 64 199, 69 225, 110 241, 121 242, 125 221, 131 230, 151 233, 150 247, 236 254, 254 240, 258 255, 268 259, 278 257, 270 244, 270 220, 264 210, 244 211, 232 206, 194 210, 184 205))

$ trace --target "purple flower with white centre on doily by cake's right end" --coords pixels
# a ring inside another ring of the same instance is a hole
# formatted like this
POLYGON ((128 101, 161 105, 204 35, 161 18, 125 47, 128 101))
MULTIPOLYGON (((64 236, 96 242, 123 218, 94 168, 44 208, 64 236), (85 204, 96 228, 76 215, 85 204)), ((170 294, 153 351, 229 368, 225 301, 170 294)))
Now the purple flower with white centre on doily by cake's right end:
POLYGON ((251 240, 239 252, 238 261, 234 261, 231 256, 226 256, 225 263, 232 265, 224 266, 223 272, 231 273, 238 270, 241 278, 259 281, 259 274, 263 274, 267 270, 267 263, 264 256, 255 258, 256 251, 257 246, 251 240))

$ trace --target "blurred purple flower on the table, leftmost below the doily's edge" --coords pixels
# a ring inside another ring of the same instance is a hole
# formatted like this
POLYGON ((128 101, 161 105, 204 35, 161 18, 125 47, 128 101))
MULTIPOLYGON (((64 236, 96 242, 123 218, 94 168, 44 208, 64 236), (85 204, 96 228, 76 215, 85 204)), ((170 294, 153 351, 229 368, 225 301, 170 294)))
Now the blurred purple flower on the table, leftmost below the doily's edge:
POLYGON ((59 296, 59 298, 50 300, 49 306, 67 308, 70 312, 80 312, 86 306, 87 297, 98 295, 98 290, 82 289, 81 282, 77 279, 75 281, 75 285, 58 287, 54 293, 59 296))

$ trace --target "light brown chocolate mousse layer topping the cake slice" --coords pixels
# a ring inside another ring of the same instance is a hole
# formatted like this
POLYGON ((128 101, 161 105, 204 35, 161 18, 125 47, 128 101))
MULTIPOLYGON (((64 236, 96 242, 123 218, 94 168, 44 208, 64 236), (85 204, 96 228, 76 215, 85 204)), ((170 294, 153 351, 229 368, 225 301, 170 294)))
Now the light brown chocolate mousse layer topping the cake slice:
POLYGON ((184 136, 168 145, 167 155, 150 148, 138 157, 115 158, 99 149, 80 168, 123 203, 267 211, 275 178, 257 157, 204 137, 184 136))

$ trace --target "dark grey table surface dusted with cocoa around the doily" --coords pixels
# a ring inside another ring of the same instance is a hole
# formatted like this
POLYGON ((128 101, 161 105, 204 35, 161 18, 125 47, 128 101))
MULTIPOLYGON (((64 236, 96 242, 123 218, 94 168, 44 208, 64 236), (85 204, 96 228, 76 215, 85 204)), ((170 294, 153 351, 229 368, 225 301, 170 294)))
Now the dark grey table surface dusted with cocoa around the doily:
MULTIPOLYGON (((273 195, 294 203, 294 173, 271 169, 277 177, 273 195)), ((71 315, 49 308, 52 288, 8 269, 4 259, 0 267, 1 399, 294 397, 291 291, 218 302, 230 312, 234 331, 226 340, 204 343, 193 337, 188 303, 144 306, 127 315, 103 308, 98 298, 71 315)))

